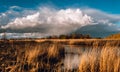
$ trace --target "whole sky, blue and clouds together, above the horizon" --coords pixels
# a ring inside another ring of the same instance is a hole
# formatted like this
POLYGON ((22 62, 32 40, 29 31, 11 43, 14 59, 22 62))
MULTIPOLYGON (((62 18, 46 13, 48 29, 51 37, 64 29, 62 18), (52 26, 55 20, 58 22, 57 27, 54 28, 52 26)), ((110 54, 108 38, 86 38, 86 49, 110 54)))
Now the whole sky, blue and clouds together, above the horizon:
MULTIPOLYGON (((0 36, 120 33, 120 0, 0 0, 0 36)), ((96 35, 95 35, 96 34, 96 35)))

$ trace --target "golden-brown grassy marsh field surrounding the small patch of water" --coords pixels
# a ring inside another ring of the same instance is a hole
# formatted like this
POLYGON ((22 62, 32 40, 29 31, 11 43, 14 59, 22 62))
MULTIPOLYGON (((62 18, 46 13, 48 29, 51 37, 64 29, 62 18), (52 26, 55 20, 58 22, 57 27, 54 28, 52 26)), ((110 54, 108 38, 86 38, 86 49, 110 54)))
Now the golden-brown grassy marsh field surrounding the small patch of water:
POLYGON ((0 41, 0 72, 120 72, 120 40, 0 41), (82 52, 75 69, 64 67, 65 45, 90 47, 82 52))

